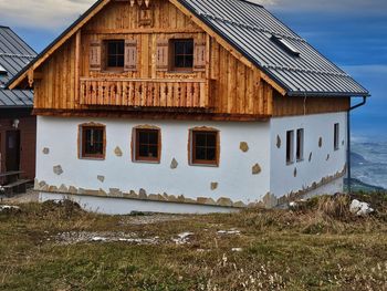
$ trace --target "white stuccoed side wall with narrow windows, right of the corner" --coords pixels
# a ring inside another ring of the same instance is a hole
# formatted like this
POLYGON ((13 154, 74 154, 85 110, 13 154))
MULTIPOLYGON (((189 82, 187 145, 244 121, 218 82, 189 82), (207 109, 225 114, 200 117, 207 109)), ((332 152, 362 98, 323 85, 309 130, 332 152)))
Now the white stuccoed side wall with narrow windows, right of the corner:
MULTIPOLYGON (((316 114, 271 119, 271 194, 282 197, 296 193, 323 177, 342 172, 346 164, 346 113, 316 114), (334 124, 339 123, 339 149, 334 150, 334 124), (286 165, 286 132, 294 129, 294 156, 296 129, 304 128, 304 160, 286 165), (276 136, 281 137, 281 148, 276 147, 276 136), (323 146, 318 147, 318 139, 323 146), (344 141, 344 145, 343 145, 344 141), (308 162, 312 152, 312 162, 308 162), (327 155, 330 159, 326 160, 327 155), (294 168, 297 176, 294 177, 294 168)), ((343 179, 334 181, 325 189, 333 194, 343 190, 343 179)), ((321 193, 320 193, 321 194, 321 193)))

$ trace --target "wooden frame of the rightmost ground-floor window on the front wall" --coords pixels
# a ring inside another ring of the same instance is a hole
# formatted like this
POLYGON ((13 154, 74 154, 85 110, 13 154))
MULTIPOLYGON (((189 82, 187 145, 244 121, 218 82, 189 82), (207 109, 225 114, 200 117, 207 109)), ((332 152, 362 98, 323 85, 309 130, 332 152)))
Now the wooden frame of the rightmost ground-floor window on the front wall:
POLYGON ((219 167, 220 165, 220 131, 211 127, 195 127, 189 129, 188 133, 188 160, 190 166, 208 166, 208 167, 219 167), (215 160, 203 160, 197 159, 196 154, 196 133, 213 133, 216 134, 216 159, 215 160))

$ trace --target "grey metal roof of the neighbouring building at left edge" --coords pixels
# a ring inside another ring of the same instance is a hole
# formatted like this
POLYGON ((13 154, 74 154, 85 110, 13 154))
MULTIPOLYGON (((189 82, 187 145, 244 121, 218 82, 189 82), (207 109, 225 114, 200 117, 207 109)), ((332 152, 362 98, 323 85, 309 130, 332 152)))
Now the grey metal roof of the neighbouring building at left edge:
POLYGON ((7 74, 0 74, 0 108, 33 105, 32 91, 6 90, 3 86, 35 56, 35 51, 10 28, 0 27, 0 66, 7 72, 7 74))

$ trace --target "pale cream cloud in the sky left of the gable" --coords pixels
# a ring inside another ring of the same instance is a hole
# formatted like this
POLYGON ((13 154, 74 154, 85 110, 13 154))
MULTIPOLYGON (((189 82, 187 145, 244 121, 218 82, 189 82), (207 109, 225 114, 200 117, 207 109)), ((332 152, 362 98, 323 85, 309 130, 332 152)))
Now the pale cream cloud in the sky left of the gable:
POLYGON ((0 24, 59 30, 69 25, 95 0, 0 0, 0 24))

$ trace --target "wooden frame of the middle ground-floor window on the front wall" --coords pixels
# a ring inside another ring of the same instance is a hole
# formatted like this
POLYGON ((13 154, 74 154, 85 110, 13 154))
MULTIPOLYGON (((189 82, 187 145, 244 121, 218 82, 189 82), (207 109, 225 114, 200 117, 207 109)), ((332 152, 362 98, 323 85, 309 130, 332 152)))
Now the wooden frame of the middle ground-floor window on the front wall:
POLYGON ((149 163, 149 164, 160 164, 161 162, 161 129, 157 126, 136 126, 132 131, 132 162, 134 163, 149 163), (158 144, 157 144, 157 157, 140 157, 139 156, 139 133, 153 131, 158 133, 158 144))

